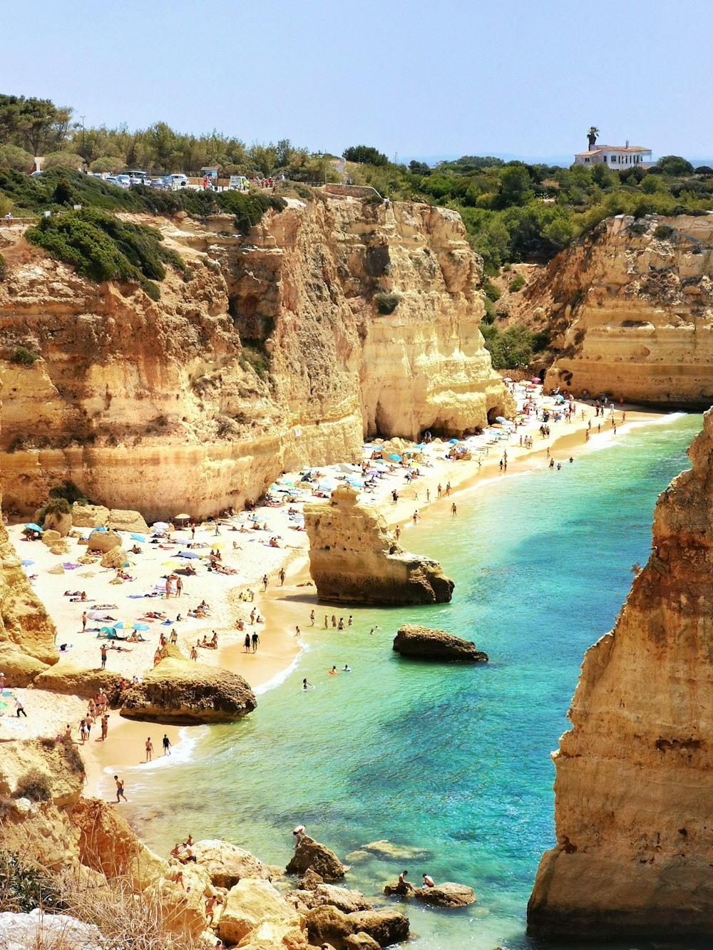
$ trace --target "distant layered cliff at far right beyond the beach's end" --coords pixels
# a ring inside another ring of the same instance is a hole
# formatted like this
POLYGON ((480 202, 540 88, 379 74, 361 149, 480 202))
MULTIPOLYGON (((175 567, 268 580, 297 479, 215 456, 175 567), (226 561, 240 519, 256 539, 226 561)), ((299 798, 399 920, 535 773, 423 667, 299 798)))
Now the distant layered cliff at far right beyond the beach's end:
POLYGON ((548 325, 546 388, 638 403, 713 403, 713 218, 623 216, 555 257, 521 315, 548 325))

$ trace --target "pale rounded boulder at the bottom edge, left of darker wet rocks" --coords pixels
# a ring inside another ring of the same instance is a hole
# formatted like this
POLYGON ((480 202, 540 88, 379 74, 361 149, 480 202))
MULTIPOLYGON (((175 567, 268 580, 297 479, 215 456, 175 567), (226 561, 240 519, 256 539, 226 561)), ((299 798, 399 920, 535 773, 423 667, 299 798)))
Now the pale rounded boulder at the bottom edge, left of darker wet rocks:
POLYGON ((279 944, 301 923, 295 908, 269 881, 242 878, 228 891, 218 921, 218 936, 227 943, 239 943, 251 937, 252 940, 273 940, 279 944))

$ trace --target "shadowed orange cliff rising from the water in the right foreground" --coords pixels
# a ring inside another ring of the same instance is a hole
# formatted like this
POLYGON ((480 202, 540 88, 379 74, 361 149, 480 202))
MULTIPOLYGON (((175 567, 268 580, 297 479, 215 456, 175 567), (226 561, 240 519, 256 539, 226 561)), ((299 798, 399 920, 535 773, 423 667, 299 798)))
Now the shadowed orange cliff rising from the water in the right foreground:
POLYGON ((713 933, 713 412, 688 454, 616 626, 585 656, 536 936, 713 933))

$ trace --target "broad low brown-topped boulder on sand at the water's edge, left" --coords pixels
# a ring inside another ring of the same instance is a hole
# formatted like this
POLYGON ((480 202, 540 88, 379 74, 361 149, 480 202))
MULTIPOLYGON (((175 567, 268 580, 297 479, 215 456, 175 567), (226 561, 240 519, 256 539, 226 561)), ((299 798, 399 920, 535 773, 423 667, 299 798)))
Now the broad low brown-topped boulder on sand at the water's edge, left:
POLYGON ((242 676, 167 656, 123 693, 121 714, 130 719, 192 725, 234 722, 258 705, 242 676))

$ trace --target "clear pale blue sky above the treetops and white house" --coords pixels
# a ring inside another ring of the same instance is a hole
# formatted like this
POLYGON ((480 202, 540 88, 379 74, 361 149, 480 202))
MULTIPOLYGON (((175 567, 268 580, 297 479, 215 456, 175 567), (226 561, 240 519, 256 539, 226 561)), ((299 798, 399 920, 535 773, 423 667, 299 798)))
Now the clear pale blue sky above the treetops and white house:
POLYGON ((213 128, 390 157, 713 155, 711 0, 33 0, 2 5, 2 91, 88 124, 213 128))

